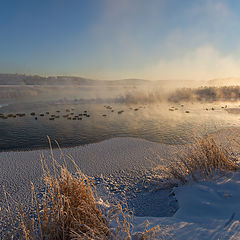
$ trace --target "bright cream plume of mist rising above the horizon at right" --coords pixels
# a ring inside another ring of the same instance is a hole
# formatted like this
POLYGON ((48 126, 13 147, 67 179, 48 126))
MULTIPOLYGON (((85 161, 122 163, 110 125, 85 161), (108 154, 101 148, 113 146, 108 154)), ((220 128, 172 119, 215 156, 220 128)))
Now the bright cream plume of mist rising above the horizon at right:
POLYGON ((199 46, 187 51, 183 56, 173 59, 159 59, 146 67, 140 76, 146 79, 194 79, 209 80, 240 76, 240 58, 223 54, 211 45, 199 46))

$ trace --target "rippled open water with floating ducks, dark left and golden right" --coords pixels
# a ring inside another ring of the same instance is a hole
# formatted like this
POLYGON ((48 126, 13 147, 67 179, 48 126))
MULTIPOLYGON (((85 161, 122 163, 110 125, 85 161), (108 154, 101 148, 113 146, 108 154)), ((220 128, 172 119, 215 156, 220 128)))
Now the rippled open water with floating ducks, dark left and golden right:
POLYGON ((12 104, 0 109, 0 151, 48 147, 47 135, 61 147, 113 137, 182 144, 193 135, 239 125, 240 115, 228 113, 223 106, 225 104, 12 104), (26 115, 15 116, 17 113, 26 115))

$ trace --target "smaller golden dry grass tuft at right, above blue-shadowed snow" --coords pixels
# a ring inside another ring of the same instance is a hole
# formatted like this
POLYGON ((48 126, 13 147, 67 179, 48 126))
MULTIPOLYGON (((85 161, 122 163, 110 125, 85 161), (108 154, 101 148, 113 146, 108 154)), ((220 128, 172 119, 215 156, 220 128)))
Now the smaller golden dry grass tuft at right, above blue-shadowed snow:
POLYGON ((173 178, 186 183, 189 177, 197 181, 198 177, 212 178, 216 174, 224 174, 239 168, 228 152, 208 136, 197 139, 185 153, 179 154, 175 163, 169 166, 168 172, 173 178))

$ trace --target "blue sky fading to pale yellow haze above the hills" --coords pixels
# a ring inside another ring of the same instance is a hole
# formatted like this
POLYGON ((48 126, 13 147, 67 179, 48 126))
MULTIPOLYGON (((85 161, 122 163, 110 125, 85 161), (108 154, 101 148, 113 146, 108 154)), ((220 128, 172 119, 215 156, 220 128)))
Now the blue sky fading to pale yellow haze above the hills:
POLYGON ((0 73, 240 77, 240 1, 0 0, 0 73))

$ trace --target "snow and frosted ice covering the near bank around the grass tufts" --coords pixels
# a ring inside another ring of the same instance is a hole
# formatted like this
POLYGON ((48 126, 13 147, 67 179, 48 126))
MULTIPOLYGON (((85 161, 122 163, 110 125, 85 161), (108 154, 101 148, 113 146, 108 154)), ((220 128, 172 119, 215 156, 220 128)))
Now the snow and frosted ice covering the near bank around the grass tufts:
MULTIPOLYGON (((239 155, 240 129, 219 131, 214 136, 218 143, 231 147, 233 154, 239 155)), ((121 191, 130 194, 130 204, 138 208, 138 217, 134 221, 136 232, 145 229, 145 220, 148 219, 150 226, 160 224, 164 228, 166 239, 240 239, 239 172, 217 180, 190 182, 174 188, 174 193, 161 188, 162 185, 159 188, 151 169, 174 161, 176 153, 184 148, 142 139, 114 138, 62 151, 65 156, 71 155, 84 173, 96 179, 104 176, 113 195, 121 191), (177 211, 172 205, 176 200, 177 211), (171 214, 164 213, 164 209, 168 213, 172 210, 171 214)), ((14 200, 28 204, 30 181, 40 187, 40 154, 51 162, 49 150, 0 153, 0 184, 14 200)), ((63 163, 60 150, 53 150, 53 154, 63 163)), ((69 169, 74 171, 71 164, 69 169)), ((6 208, 2 189, 0 208, 6 208)))

